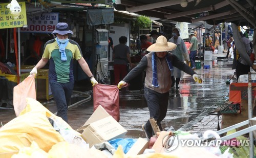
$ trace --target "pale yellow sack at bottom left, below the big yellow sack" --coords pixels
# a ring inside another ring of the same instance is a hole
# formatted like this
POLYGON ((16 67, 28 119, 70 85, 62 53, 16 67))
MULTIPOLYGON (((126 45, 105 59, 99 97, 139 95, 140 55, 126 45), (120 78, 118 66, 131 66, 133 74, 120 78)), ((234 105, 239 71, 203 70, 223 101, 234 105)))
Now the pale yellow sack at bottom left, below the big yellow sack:
POLYGON ((20 149, 17 154, 14 154, 12 158, 48 158, 48 153, 44 150, 40 149, 39 146, 32 142, 30 147, 25 147, 20 149))

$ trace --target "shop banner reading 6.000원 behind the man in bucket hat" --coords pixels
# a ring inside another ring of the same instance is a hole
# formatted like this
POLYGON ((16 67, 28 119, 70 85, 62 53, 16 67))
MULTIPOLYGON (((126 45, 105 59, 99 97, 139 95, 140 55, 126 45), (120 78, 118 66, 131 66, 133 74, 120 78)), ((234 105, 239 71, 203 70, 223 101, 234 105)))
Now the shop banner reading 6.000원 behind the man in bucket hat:
POLYGON ((34 14, 28 18, 28 27, 21 28, 20 32, 52 33, 58 23, 59 13, 34 14))

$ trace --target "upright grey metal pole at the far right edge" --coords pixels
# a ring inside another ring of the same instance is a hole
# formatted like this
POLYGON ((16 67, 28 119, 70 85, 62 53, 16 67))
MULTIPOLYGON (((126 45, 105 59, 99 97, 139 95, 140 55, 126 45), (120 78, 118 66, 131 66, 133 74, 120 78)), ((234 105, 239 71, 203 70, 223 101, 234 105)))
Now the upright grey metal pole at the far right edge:
MULTIPOLYGON (((251 92, 251 73, 248 73, 248 119, 252 118, 252 92, 251 92)), ((253 132, 249 132, 249 139, 250 139, 250 158, 253 158, 253 132)))

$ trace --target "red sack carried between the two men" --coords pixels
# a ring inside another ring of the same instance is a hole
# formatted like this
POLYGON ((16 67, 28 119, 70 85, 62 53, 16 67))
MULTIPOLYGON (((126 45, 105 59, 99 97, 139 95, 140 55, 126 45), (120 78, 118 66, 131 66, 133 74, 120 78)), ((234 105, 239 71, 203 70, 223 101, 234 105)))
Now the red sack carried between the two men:
POLYGON ((96 84, 93 87, 93 105, 94 110, 101 105, 119 122, 119 89, 116 85, 96 84))

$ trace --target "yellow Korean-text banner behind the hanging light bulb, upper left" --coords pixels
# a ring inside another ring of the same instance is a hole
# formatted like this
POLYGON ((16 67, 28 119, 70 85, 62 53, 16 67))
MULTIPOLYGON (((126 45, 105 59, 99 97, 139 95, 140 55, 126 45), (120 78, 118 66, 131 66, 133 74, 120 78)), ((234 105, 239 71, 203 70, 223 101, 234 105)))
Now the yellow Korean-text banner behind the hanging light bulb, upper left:
POLYGON ((26 3, 18 3, 22 11, 17 19, 14 19, 10 9, 7 8, 8 4, 0 3, 0 29, 19 28, 27 25, 26 3))

